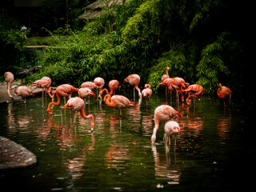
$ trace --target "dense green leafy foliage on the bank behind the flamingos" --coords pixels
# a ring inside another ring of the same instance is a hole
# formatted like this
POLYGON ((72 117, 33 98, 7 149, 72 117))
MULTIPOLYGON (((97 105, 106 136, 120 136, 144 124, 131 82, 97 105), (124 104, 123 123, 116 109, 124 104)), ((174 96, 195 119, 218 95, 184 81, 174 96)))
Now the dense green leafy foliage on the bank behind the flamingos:
POLYGON ((2 11, 1 73, 42 66, 26 82, 48 76, 53 86, 80 86, 98 76, 122 82, 136 73, 141 86, 157 90, 169 66, 170 77, 198 83, 205 93, 215 92, 218 82, 234 91, 246 86, 250 18, 236 1, 104 0, 99 17, 79 20, 90 2, 45 0, 28 38, 15 14, 2 11), (38 45, 54 48, 46 49, 46 58, 40 49, 26 49, 38 45))

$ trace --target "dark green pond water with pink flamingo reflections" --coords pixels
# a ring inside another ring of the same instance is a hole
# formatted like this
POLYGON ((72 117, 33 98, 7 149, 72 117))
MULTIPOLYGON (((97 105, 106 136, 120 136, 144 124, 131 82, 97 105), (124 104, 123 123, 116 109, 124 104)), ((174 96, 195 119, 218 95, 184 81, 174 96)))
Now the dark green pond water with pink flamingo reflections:
MULTIPOLYGON (((126 97, 134 101, 131 92, 126 97)), ((35 166, 0 170, 0 191, 233 191, 252 185, 255 150, 248 102, 234 98, 224 108, 214 96, 202 96, 190 107, 172 101, 153 95, 146 106, 136 96, 138 110, 122 110, 119 120, 118 110, 91 98, 86 114, 94 114, 94 133, 90 120, 78 116, 74 125, 70 110, 64 114, 54 106, 54 116, 48 115, 50 98, 0 104, 0 135, 38 158, 35 166), (183 117, 173 118, 181 133, 170 148, 162 141, 163 123, 156 143, 150 142, 154 109, 162 104, 183 117)))

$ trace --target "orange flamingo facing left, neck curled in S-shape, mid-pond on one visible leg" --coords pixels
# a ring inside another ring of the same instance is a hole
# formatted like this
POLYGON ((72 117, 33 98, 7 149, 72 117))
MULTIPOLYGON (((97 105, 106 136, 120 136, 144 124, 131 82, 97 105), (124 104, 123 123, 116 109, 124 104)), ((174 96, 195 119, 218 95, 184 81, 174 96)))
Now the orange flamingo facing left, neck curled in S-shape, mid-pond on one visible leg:
POLYGON ((130 102, 128 98, 122 95, 114 95, 111 97, 110 94, 106 94, 104 97, 104 102, 106 102, 107 106, 120 110, 120 120, 122 119, 122 109, 128 106, 134 106, 135 108, 134 102, 130 102))

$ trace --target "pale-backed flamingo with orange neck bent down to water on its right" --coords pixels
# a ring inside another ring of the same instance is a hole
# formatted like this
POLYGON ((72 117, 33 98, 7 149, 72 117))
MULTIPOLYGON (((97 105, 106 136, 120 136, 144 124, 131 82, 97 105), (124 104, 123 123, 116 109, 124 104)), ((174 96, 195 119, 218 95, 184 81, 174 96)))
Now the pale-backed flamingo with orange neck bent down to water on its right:
POLYGON ((78 111, 80 111, 80 115, 82 116, 82 118, 85 118, 85 119, 91 118, 90 131, 91 132, 94 131, 94 115, 93 114, 86 115, 86 112, 84 109, 85 102, 82 100, 82 98, 78 98, 78 97, 70 98, 66 102, 66 105, 64 106, 65 110, 66 108, 69 108, 70 110, 74 111, 74 123, 75 123, 75 118, 78 111))

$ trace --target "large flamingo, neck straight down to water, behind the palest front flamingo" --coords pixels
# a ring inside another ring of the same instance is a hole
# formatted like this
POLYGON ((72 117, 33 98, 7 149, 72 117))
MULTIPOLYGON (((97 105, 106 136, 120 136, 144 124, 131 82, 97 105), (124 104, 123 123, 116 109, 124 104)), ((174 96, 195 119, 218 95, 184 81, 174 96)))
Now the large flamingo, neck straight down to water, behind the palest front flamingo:
POLYGON ((153 134, 151 136, 151 142, 154 143, 156 139, 156 134, 159 128, 160 122, 167 122, 170 120, 170 118, 174 118, 174 116, 178 115, 180 118, 182 118, 182 115, 178 113, 178 111, 174 110, 173 107, 168 105, 161 105, 158 106, 154 110, 154 130, 153 134))

